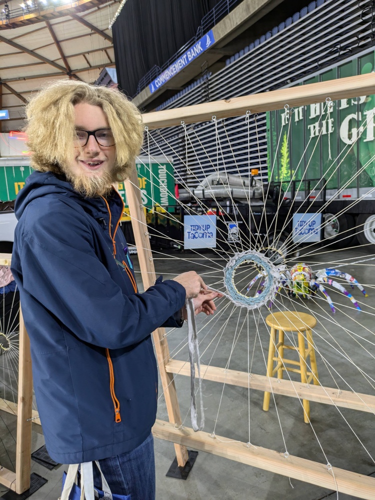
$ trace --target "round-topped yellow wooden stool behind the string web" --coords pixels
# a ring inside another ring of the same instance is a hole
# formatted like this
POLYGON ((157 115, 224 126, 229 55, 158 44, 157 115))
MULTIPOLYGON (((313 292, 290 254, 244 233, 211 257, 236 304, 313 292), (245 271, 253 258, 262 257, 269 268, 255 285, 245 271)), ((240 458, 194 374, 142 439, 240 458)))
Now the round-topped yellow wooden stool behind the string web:
MULTIPOLYGON (((277 378, 282 378, 283 370, 300 373, 301 382, 309 383, 313 380, 315 385, 320 385, 317 375, 314 344, 312 341, 311 329, 316 325, 316 319, 311 314, 304 312, 280 311, 269 314, 265 322, 271 327, 267 376, 273 377, 277 372, 277 378), (276 343, 276 331, 278 331, 278 342, 276 343), (298 347, 284 344, 284 332, 298 332, 298 347), (305 332, 305 337, 302 332, 305 332), (307 348, 305 345, 307 341, 307 348), (294 361, 284 358, 284 349, 298 351, 299 360, 294 361), (307 371, 307 357, 310 358, 311 371, 307 371), (273 361, 276 366, 273 368, 273 361), (287 364, 296 366, 295 368, 286 366, 287 364)), ((270 392, 264 392, 263 410, 269 408, 270 392)), ((307 399, 303 399, 303 418, 306 423, 310 421, 310 404, 307 399)))

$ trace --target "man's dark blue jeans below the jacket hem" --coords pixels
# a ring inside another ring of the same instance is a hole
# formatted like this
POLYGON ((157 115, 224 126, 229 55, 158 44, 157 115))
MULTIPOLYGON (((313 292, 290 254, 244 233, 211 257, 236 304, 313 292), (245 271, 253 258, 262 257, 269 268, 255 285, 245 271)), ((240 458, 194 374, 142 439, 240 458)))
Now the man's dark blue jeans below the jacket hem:
MULTIPOLYGON (((130 500, 155 500, 155 458, 150 434, 137 448, 99 460, 100 468, 112 493, 130 495, 130 500)), ((101 479, 94 466, 94 485, 101 479)))

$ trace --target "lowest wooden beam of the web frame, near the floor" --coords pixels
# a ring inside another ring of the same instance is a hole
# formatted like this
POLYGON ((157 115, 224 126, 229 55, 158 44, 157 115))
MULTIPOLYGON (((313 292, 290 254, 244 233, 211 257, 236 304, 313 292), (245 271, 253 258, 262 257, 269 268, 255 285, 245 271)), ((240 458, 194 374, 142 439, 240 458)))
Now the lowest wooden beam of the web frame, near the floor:
MULTIPOLYGON (((169 422, 156 420, 152 427, 152 434, 160 439, 206 451, 214 455, 223 456, 230 460, 259 467, 276 474, 292 477, 300 481, 316 484, 353 495, 356 498, 375 500, 375 478, 366 475, 332 467, 328 470, 327 464, 314 462, 293 455, 284 456, 284 453, 249 445, 215 436, 203 431, 194 432, 188 427, 183 430, 175 429, 169 422)), ((277 497, 275 493, 273 496, 277 497)))

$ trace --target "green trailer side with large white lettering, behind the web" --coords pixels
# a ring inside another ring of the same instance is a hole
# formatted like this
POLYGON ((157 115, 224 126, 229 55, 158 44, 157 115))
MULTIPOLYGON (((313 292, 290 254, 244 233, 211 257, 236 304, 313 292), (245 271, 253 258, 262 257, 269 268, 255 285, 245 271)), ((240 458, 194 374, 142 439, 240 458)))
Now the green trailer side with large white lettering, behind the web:
MULTIPOLYGON (((374 52, 303 84, 371 73, 374 52)), ((327 189, 375 186, 375 96, 358 96, 267 113, 268 177, 282 182, 324 178, 327 189)))

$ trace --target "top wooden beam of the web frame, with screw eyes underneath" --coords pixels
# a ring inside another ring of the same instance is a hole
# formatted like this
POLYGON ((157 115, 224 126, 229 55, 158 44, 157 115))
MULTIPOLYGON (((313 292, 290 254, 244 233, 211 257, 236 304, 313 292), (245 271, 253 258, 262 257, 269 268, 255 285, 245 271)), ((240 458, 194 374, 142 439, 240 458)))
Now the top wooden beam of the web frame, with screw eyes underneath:
POLYGON ((323 102, 326 98, 332 101, 343 98, 368 96, 375 94, 375 74, 358 75, 339 78, 328 82, 299 85, 288 89, 251 94, 222 101, 196 104, 183 108, 155 111, 143 115, 143 123, 150 129, 172 127, 184 123, 210 121, 217 119, 279 110, 287 104, 290 108, 323 102))

